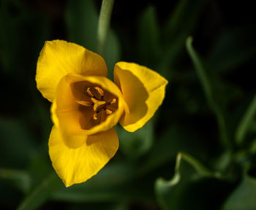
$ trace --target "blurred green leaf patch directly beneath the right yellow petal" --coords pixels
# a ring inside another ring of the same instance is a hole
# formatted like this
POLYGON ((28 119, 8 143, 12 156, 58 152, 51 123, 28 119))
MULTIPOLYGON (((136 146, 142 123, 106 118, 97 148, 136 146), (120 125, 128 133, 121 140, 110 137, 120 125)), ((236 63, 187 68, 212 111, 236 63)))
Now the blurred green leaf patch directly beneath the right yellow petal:
POLYGON ((143 128, 134 133, 125 131, 121 126, 116 126, 120 139, 121 150, 130 158, 138 158, 144 155, 152 147, 154 140, 154 123, 148 121, 143 128))

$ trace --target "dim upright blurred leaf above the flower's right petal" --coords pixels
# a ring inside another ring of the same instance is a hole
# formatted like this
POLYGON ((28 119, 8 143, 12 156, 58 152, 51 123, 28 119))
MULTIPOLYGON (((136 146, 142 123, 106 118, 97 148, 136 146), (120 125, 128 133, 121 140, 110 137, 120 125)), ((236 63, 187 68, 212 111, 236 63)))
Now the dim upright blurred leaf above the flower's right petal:
POLYGON ((154 7, 145 9, 138 24, 138 55, 147 66, 154 66, 162 55, 159 39, 159 26, 154 7))

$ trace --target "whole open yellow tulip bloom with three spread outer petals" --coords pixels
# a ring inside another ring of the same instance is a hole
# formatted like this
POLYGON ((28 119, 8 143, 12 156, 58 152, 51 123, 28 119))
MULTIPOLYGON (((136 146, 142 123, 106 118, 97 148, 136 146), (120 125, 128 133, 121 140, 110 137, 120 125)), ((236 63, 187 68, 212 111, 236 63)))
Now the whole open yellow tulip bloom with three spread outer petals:
POLYGON ((64 184, 85 182, 118 149, 113 128, 141 128, 165 97, 167 80, 144 66, 118 62, 108 79, 104 59, 78 44, 45 42, 37 61, 37 88, 52 102, 49 154, 64 184))

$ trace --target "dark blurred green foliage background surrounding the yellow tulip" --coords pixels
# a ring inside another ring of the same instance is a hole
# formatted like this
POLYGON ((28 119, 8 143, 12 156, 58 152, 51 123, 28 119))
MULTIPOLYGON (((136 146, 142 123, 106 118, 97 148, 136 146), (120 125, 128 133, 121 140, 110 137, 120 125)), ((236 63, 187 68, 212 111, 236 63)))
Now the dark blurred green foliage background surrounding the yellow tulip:
POLYGON ((0 209, 256 209, 252 4, 116 1, 109 77, 116 61, 148 66, 169 80, 165 101, 139 131, 117 125, 116 156, 66 188, 48 157, 36 63, 46 40, 96 51, 101 1, 1 0, 0 209))

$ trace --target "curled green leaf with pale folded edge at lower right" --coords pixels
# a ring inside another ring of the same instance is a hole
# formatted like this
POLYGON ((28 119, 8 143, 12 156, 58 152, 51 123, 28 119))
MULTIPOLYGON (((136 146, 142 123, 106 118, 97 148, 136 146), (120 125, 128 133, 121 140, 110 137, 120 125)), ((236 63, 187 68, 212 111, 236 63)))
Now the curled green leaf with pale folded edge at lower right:
MULTIPOLYGON (((197 173, 199 177, 213 177, 213 178, 221 178, 221 174, 217 172, 212 172, 208 170, 205 166, 203 166, 198 160, 193 158, 190 155, 185 154, 184 152, 179 152, 176 158, 176 167, 175 174, 172 179, 169 181, 158 178, 155 182, 155 193, 157 195, 157 200, 163 209, 177 209, 178 203, 181 203, 181 194, 185 188, 187 188, 187 184, 189 183, 189 179, 191 179, 192 175, 197 173), (189 163, 192 168, 184 169, 181 168, 181 160, 185 160, 189 163), (186 172, 182 173, 180 171, 186 172), (181 174, 184 174, 181 179, 181 174), (186 175, 185 175, 186 174, 186 175), (177 199, 177 200, 176 200, 177 199)), ((194 178, 196 176, 194 175, 194 178)))

